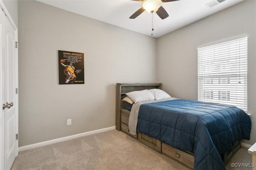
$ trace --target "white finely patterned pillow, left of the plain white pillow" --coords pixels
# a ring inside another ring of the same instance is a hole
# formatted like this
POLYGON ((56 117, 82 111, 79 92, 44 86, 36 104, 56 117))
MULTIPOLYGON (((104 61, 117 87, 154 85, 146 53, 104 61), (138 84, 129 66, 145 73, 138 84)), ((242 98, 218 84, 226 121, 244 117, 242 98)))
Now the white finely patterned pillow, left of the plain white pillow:
POLYGON ((148 89, 141 90, 141 91, 132 91, 132 92, 126 93, 126 95, 130 97, 130 99, 132 99, 134 103, 138 103, 141 101, 155 100, 154 95, 150 93, 148 89))

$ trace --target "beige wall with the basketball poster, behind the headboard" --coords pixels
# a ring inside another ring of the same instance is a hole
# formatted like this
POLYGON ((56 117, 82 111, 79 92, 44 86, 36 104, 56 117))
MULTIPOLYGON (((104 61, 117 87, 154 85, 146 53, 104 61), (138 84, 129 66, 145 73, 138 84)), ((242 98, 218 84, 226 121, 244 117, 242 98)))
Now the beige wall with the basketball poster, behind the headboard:
POLYGON ((115 126, 116 83, 156 82, 155 38, 36 1, 18 15, 19 146, 115 126), (58 50, 84 53, 85 84, 58 85, 58 50))

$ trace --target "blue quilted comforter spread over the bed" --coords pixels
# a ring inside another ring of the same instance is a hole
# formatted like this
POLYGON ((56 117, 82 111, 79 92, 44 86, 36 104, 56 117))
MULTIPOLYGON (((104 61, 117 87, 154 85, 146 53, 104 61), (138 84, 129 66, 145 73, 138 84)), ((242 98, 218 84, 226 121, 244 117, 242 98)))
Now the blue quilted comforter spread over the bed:
POLYGON ((250 117, 233 105, 170 100, 142 104, 138 114, 138 132, 193 152, 196 170, 226 169, 220 155, 250 139, 250 117))

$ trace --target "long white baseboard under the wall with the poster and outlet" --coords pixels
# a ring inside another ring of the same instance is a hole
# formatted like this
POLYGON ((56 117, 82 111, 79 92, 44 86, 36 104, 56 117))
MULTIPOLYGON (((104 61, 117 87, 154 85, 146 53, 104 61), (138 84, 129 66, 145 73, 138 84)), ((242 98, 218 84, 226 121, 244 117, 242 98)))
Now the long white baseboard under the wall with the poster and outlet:
POLYGON ((18 150, 20 152, 22 150, 27 150, 27 149, 36 148, 36 147, 39 147, 39 146, 44 146, 44 145, 48 145, 48 144, 62 142, 62 141, 65 141, 65 140, 70 140, 70 139, 74 139, 74 138, 78 138, 78 137, 82 137, 82 136, 87 136, 87 135, 90 135, 90 134, 96 134, 96 133, 99 133, 99 132, 105 132, 105 131, 112 130, 112 129, 116 129, 116 126, 108 127, 108 128, 102 128, 102 129, 93 130, 93 131, 90 131, 90 132, 84 132, 84 133, 80 133, 80 134, 74 134, 74 135, 71 135, 71 136, 66 136, 66 137, 63 137, 63 138, 57 138, 57 139, 53 139, 53 140, 47 140, 47 141, 39 142, 39 143, 35 143, 35 144, 29 144, 29 145, 26 145, 26 146, 19 147, 18 150))

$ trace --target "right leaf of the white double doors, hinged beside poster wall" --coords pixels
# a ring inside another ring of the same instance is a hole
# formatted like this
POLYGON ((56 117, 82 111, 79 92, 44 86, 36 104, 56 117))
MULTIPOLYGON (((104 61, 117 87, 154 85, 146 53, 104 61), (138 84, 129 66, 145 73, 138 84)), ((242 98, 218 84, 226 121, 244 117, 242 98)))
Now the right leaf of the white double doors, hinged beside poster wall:
POLYGON ((5 109, 5 169, 10 169, 16 157, 16 105, 15 103, 15 30, 9 20, 5 23, 6 57, 5 57, 5 102, 13 103, 5 109))

